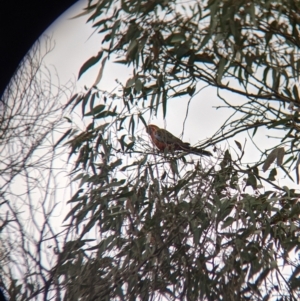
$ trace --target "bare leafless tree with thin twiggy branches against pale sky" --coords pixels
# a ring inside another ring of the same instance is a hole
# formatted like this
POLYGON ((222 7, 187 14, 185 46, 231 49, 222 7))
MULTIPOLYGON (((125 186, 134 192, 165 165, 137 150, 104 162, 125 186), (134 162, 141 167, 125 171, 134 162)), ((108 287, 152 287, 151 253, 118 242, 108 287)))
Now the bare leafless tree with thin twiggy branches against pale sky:
POLYGON ((62 236, 55 221, 66 166, 53 146, 65 130, 62 103, 74 90, 45 66, 52 49, 50 38, 35 43, 0 103, 0 287, 9 300, 47 299, 62 236))

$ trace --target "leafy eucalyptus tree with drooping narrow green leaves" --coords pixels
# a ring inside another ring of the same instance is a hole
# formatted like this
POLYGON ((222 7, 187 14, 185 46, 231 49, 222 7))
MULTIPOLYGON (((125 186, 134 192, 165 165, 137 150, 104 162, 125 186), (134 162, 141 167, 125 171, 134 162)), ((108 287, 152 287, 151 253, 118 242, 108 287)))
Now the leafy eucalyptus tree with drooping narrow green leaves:
POLYGON ((299 164, 299 8, 88 2, 81 15, 103 34, 102 48, 79 77, 101 66, 95 85, 68 103, 81 105, 86 130, 62 137, 79 181, 66 216, 72 239, 54 268, 65 300, 299 298, 299 193, 276 181, 299 164), (133 74, 119 96, 97 88, 110 59, 133 74), (216 159, 158 153, 138 135, 145 116, 165 116, 173 98, 206 85, 232 112, 200 145, 214 146, 216 159), (277 140, 257 162, 244 162, 238 141, 221 151, 249 130, 259 143, 261 129, 277 140))

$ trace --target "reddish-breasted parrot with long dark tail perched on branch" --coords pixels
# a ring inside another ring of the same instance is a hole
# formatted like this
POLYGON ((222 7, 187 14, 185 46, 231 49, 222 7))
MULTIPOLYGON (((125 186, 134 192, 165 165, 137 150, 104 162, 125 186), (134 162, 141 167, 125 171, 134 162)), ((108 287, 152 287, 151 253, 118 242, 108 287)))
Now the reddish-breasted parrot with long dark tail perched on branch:
POLYGON ((201 156, 212 156, 210 152, 200 148, 192 147, 189 143, 183 142, 167 130, 160 129, 154 124, 149 124, 147 126, 147 133, 150 135, 153 144, 155 144, 160 151, 181 150, 201 156))

